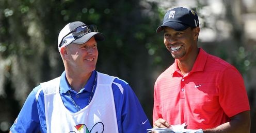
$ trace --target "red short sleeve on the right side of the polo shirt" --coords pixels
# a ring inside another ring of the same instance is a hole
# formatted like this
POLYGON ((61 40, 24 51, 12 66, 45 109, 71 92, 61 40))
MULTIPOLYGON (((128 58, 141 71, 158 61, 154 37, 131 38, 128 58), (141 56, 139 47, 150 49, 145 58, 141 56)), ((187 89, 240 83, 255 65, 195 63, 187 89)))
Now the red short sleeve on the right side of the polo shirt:
POLYGON ((236 68, 226 68, 219 80, 219 103, 228 117, 250 110, 244 80, 236 68))

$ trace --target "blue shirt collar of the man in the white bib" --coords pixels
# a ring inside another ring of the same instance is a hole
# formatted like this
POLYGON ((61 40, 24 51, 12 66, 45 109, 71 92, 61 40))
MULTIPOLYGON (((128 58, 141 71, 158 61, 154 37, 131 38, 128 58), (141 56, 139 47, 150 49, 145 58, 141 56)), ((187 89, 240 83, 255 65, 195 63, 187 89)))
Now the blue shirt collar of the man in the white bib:
MULTIPOLYGON (((95 74, 97 74, 97 71, 96 70, 92 71, 89 80, 87 81, 86 85, 82 89, 82 92, 84 91, 91 92, 94 79, 95 79, 95 74)), ((60 88, 60 93, 66 93, 67 91, 71 90, 71 87, 69 86, 69 83, 66 78, 66 71, 63 71, 60 76, 59 88, 60 88)))

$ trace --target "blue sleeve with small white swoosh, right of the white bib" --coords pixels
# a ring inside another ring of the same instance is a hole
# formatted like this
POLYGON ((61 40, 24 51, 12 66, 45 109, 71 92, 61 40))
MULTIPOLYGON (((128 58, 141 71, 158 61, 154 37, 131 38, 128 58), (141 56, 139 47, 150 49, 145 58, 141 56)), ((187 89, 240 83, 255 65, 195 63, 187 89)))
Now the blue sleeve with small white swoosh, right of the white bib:
POLYGON ((152 128, 130 85, 116 79, 112 86, 119 132, 147 132, 152 128))

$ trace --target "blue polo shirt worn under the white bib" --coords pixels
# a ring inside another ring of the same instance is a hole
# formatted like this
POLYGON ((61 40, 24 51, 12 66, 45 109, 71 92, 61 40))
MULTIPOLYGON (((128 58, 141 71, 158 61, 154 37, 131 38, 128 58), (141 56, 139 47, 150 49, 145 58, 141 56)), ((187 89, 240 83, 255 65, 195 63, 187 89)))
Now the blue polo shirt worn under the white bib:
MULTIPOLYGON (((64 71, 60 77, 60 96, 66 108, 74 113, 74 106, 68 91, 75 103, 84 108, 88 105, 92 86, 96 75, 94 70, 85 87, 79 92, 72 90, 66 80, 64 71)), ((97 83, 95 83, 97 85, 97 83)), ((95 87, 96 88, 96 87, 95 87)), ((117 124, 119 132, 147 132, 151 128, 149 120, 143 111, 138 98, 128 83, 116 78, 112 84, 116 107, 117 124)), ((93 91, 93 93, 95 90, 93 91)), ((47 132, 45 121, 44 93, 41 85, 30 92, 17 120, 13 123, 10 131, 14 132, 47 132)))

